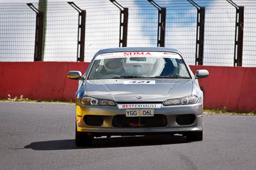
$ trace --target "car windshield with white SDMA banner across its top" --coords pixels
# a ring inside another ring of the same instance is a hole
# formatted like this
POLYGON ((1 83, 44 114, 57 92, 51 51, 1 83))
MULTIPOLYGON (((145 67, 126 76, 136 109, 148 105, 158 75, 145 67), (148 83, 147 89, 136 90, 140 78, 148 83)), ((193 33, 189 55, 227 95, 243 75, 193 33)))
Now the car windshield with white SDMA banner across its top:
POLYGON ((190 78, 184 61, 172 52, 116 52, 95 57, 88 80, 190 78))

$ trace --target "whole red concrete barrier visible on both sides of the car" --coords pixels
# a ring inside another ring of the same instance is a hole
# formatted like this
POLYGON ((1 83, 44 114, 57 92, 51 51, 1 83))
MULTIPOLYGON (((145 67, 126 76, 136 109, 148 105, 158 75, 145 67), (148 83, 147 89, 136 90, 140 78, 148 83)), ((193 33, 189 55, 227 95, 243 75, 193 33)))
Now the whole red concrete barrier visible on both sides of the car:
MULTIPOLYGON (((23 95, 29 99, 74 100, 78 81, 67 72, 84 73, 86 62, 0 62, 0 99, 23 95)), ((191 66, 207 69, 208 78, 200 79, 204 108, 256 111, 256 68, 191 66)))

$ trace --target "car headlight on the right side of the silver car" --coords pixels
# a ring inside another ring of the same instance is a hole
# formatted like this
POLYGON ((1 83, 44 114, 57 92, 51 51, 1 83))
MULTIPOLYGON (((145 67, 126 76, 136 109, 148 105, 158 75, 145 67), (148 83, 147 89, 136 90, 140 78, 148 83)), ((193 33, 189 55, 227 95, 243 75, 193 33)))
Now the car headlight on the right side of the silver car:
POLYGON ((168 99, 164 101, 164 106, 174 106, 174 105, 186 105, 186 104, 196 104, 200 103, 202 99, 198 96, 186 96, 178 99, 168 99))

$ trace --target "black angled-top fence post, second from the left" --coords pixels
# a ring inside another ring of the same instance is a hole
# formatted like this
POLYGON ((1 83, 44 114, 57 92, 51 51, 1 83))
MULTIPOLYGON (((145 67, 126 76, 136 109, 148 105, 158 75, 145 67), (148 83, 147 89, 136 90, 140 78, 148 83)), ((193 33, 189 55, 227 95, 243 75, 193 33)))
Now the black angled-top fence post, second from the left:
POLYGON ((77 62, 84 61, 86 10, 81 10, 74 2, 67 2, 78 11, 77 62))

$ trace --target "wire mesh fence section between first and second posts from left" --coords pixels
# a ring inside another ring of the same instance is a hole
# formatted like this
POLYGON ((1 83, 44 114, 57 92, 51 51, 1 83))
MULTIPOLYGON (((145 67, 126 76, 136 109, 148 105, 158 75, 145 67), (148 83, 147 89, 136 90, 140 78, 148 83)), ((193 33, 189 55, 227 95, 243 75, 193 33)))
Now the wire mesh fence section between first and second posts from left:
POLYGON ((76 61, 77 11, 47 12, 44 61, 76 61))

